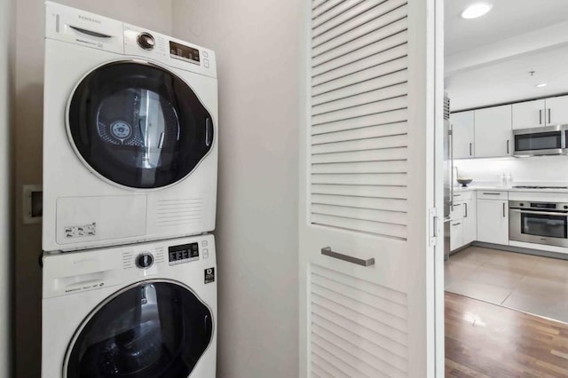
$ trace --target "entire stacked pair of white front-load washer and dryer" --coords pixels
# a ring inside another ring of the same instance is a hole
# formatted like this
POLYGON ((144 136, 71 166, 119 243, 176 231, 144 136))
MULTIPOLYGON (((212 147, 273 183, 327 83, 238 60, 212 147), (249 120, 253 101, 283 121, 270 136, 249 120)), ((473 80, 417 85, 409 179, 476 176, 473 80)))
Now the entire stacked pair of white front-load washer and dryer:
POLYGON ((209 378, 213 51, 46 3, 43 378, 209 378))

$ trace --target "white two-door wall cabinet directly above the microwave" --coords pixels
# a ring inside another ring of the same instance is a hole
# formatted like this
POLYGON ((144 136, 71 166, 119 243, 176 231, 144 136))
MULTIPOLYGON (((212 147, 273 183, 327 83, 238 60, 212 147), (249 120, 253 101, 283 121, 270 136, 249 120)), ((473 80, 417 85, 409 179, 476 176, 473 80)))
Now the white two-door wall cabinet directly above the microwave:
POLYGON ((513 104, 513 129, 531 129, 568 123, 568 96, 513 104))

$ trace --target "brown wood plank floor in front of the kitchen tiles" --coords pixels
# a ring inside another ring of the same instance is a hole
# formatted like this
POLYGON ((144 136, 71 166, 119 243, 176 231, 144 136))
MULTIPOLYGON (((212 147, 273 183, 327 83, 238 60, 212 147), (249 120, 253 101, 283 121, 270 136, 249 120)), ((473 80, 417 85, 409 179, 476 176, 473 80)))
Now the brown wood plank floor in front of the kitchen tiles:
POLYGON ((446 377, 568 377, 568 325, 446 293, 446 377))

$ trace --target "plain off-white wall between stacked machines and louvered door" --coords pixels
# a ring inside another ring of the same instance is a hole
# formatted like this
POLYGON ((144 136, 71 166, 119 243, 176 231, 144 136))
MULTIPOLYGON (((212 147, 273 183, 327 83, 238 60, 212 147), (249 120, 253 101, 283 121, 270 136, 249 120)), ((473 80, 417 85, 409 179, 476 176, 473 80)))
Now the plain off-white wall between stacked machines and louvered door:
POLYGON ((300 0, 174 0, 174 34, 217 51, 218 373, 298 375, 300 0))

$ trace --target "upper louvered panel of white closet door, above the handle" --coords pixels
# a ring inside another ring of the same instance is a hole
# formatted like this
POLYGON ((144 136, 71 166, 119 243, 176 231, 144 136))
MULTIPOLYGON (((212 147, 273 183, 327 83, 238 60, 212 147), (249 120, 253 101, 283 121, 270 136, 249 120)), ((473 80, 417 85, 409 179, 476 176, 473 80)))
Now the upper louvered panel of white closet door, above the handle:
POLYGON ((407 28, 406 0, 314 3, 312 224, 406 240, 407 28))

